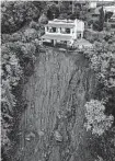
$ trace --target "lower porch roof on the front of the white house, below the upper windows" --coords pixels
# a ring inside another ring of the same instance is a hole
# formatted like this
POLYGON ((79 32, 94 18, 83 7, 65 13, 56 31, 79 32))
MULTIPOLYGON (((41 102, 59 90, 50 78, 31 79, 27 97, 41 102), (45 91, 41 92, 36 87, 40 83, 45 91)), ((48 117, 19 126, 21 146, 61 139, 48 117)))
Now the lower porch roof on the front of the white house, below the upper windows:
POLYGON ((61 35, 61 34, 45 34, 42 38, 46 39, 57 39, 57 41, 70 41, 72 38, 71 35, 61 35))

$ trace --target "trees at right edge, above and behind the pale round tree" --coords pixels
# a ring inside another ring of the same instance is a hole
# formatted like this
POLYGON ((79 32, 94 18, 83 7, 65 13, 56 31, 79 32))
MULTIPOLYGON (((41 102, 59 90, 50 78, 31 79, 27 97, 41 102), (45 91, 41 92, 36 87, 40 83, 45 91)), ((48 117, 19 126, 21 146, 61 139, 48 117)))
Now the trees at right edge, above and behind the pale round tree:
POLYGON ((97 95, 106 100, 107 113, 115 116, 115 36, 106 34, 102 42, 95 42, 94 50, 84 51, 90 60, 90 67, 95 71, 99 87, 97 95), (105 41, 104 41, 105 39, 105 41), (99 94, 100 93, 100 94, 99 94))

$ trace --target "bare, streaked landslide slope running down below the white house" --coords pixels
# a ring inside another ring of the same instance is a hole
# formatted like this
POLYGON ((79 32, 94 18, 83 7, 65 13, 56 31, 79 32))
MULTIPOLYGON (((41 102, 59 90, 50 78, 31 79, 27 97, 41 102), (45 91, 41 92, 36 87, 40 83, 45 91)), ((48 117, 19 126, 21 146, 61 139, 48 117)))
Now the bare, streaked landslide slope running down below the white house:
POLYGON ((93 161, 83 123, 95 85, 82 54, 42 53, 23 89, 27 108, 12 161, 93 161))

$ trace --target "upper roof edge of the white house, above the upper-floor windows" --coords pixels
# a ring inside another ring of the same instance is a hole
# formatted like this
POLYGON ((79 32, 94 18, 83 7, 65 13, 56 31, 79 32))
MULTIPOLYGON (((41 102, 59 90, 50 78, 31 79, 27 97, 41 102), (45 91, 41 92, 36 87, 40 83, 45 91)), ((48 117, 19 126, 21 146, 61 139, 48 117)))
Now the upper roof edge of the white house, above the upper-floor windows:
POLYGON ((62 23, 62 22, 54 22, 54 23, 48 23, 46 26, 51 26, 51 27, 69 27, 72 28, 74 27, 73 23, 62 23))

